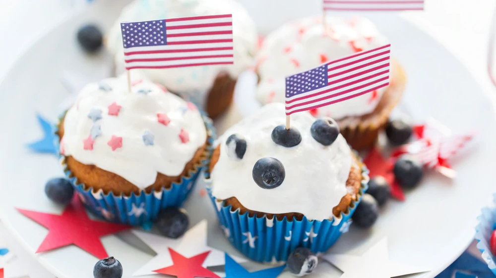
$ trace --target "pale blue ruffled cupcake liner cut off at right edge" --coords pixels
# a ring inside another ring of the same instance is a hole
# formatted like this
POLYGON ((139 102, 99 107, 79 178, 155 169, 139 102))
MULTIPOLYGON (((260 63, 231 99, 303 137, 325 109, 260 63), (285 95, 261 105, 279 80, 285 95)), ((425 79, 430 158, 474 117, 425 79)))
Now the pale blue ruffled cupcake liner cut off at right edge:
POLYGON ((477 218, 479 223, 475 230, 477 248, 482 252, 482 258, 488 264, 489 269, 496 275, 496 257, 491 253, 491 234, 496 230, 496 194, 493 195, 493 206, 482 209, 481 215, 477 218))

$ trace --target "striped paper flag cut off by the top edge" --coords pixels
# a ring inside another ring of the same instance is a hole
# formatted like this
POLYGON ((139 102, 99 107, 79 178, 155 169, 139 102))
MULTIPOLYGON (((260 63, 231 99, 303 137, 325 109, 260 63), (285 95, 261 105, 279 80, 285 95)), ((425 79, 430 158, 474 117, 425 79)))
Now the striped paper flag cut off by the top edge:
POLYGON ((323 0, 323 7, 349 11, 423 10, 424 0, 323 0))

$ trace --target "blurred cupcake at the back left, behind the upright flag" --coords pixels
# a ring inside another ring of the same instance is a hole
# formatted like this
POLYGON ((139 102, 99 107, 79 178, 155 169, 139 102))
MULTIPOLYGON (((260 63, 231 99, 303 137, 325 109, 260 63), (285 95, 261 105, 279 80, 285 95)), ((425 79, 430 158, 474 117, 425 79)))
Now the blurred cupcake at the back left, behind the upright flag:
MULTIPOLYGON (((234 86, 240 73, 254 65, 253 56, 257 47, 255 24, 245 8, 236 1, 134 0, 124 7, 106 37, 106 46, 115 55, 116 73, 120 74, 125 69, 121 22, 215 14, 233 14, 233 42, 219 43, 216 47, 233 47, 234 64, 136 69, 132 70, 131 74, 139 72, 147 79, 164 85, 171 92, 198 103, 210 117, 219 116, 233 100, 234 86)), ((215 36, 211 36, 212 39, 215 39, 215 36)), ((215 54, 215 51, 209 51, 207 54, 215 54)))

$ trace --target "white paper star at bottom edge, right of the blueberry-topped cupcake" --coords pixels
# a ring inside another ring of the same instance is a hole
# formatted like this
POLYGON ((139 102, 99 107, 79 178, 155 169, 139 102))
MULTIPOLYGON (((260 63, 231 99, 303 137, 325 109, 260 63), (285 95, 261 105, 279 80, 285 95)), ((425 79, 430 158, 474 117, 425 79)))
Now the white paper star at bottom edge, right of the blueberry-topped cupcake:
POLYGON ((322 258, 344 272, 340 278, 391 278, 427 271, 390 261, 386 237, 375 243, 362 256, 325 254, 322 258))

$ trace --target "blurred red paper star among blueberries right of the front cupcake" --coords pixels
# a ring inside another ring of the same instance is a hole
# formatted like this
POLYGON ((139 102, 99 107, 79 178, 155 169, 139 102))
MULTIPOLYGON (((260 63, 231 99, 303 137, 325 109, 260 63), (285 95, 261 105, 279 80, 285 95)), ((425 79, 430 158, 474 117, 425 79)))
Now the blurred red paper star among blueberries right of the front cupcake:
POLYGON ((394 180, 392 160, 386 160, 382 157, 380 151, 373 148, 367 157, 364 159, 365 165, 369 168, 371 179, 375 176, 382 176, 386 179, 387 183, 391 186, 391 196, 400 201, 405 200, 405 193, 400 185, 394 180))

